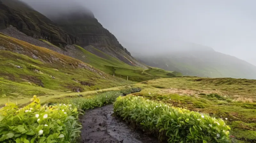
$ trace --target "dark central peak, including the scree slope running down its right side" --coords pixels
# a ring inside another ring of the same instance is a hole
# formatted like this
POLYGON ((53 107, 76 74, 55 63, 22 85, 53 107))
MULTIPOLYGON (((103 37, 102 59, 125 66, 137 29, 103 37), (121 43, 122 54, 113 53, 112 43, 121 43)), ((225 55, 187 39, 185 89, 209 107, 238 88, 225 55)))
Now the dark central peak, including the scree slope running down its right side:
POLYGON ((49 16, 49 18, 58 23, 65 31, 77 36, 81 47, 86 49, 86 46, 93 45, 96 49, 126 64, 147 69, 147 65, 134 59, 130 52, 117 41, 116 37, 94 18, 93 14, 90 13, 88 15, 83 11, 75 11, 62 14, 59 17, 51 18, 49 16))

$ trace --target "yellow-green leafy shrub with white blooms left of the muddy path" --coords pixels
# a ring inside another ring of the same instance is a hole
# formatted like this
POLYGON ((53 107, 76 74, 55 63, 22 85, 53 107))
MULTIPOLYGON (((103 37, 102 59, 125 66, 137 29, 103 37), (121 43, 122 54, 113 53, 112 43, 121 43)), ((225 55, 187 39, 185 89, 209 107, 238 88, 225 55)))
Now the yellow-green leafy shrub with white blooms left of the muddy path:
POLYGON ((6 103, 0 109, 0 142, 75 142, 81 125, 74 105, 41 106, 36 95, 32 101, 21 109, 14 103, 6 103))

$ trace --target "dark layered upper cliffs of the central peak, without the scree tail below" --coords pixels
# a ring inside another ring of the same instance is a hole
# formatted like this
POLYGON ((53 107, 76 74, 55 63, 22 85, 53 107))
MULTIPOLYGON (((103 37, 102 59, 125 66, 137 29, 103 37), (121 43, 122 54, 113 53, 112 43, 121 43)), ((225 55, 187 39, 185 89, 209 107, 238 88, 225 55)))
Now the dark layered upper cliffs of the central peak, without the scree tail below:
POLYGON ((81 13, 81 11, 72 12, 68 15, 51 18, 58 23, 65 31, 79 37, 81 46, 105 45, 114 46, 123 50, 131 56, 116 39, 116 37, 104 28, 92 13, 81 13))

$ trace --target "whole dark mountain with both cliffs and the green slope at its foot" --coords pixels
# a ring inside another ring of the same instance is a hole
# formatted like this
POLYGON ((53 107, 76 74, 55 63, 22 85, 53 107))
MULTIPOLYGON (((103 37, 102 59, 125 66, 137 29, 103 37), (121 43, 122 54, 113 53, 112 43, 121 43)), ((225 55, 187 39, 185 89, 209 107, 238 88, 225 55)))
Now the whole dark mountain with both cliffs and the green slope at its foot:
MULTIPOLYGON (((92 13, 88 16, 86 10, 80 9, 84 13, 77 13, 77 11, 64 13, 65 20, 60 20, 60 15, 63 16, 63 13, 57 16, 48 16, 55 21, 53 22, 26 3, 18 0, 1 0, 0 7, 0 15, 2 16, 0 32, 4 35, 75 58, 111 76, 115 75, 115 77, 121 77, 125 80, 128 77, 130 81, 140 82, 156 77, 180 75, 177 72, 152 69, 134 59, 117 41, 116 37, 103 28, 92 13), (79 26, 79 22, 81 22, 81 26, 79 26), (53 30, 55 34, 45 32, 53 30), (51 36, 53 37, 47 38, 51 36), (61 38, 62 36, 65 38, 61 38), (70 37, 75 41, 72 41, 70 37), (56 38, 59 38, 59 40, 56 40, 56 38), (150 69, 147 70, 148 68, 150 69), (157 74, 154 74, 154 72, 157 72, 157 74)), ((4 47, 4 50, 8 50, 8 47, 4 47)), ((31 54, 34 58, 34 53, 31 54)), ((42 52, 35 57, 38 56, 42 57, 44 53, 42 52)), ((51 63, 52 60, 48 60, 48 62, 51 63)), ((126 83, 126 81, 122 82, 126 83)))

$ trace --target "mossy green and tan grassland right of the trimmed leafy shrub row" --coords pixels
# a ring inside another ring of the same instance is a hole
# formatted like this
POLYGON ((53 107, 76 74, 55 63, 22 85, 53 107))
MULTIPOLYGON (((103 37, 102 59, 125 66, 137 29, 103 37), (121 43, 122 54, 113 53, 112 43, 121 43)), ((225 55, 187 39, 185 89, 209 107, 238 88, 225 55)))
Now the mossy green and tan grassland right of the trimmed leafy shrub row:
POLYGON ((234 140, 249 143, 256 141, 255 85, 256 80, 250 79, 164 78, 136 84, 143 88, 136 95, 228 118, 234 140))

